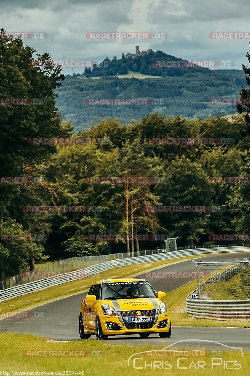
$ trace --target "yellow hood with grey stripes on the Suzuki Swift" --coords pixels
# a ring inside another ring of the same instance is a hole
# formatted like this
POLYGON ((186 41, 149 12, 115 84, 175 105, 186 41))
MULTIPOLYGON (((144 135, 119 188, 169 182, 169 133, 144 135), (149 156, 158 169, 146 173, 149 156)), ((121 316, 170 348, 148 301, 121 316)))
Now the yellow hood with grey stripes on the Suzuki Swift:
POLYGON ((110 305, 115 311, 138 309, 158 309, 161 300, 158 298, 112 299, 103 300, 103 304, 110 305))

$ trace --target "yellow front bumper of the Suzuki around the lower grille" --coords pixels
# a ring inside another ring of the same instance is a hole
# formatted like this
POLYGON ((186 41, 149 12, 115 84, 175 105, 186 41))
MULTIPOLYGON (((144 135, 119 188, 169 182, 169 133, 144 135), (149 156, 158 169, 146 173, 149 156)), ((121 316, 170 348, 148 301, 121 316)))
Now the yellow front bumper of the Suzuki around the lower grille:
POLYGON ((123 317, 117 317, 117 316, 102 317, 100 318, 100 321, 101 321, 101 326, 102 326, 102 332, 104 335, 162 333, 162 332, 168 332, 170 329, 170 315, 168 312, 162 313, 160 315, 156 315, 156 317, 153 318, 152 320, 154 321, 153 325, 152 325, 152 322, 151 322, 151 325, 149 325, 149 323, 145 323, 145 325, 143 323, 126 325, 126 320, 123 320, 123 317), (165 320, 168 320, 168 324, 164 327, 158 327, 158 326, 161 326, 159 324, 165 320), (114 330, 108 329, 107 324, 109 326, 109 323, 114 324, 114 327, 115 327, 114 330))

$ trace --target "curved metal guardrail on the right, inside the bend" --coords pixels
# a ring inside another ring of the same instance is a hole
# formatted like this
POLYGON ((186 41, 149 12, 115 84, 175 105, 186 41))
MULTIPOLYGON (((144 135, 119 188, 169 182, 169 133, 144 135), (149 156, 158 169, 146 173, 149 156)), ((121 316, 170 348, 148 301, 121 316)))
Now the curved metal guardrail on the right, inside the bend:
MULTIPOLYGON (((213 283, 216 280, 229 280, 236 273, 238 273, 244 264, 240 263, 234 267, 226 270, 223 273, 218 274, 202 285, 213 283)), ((202 287, 201 285, 201 287, 202 287)), ((250 299, 239 299, 239 300, 192 300, 190 297, 192 294, 197 294, 198 289, 193 291, 186 298, 186 313, 195 318, 210 318, 213 320, 240 320, 248 321, 250 320, 250 299)))

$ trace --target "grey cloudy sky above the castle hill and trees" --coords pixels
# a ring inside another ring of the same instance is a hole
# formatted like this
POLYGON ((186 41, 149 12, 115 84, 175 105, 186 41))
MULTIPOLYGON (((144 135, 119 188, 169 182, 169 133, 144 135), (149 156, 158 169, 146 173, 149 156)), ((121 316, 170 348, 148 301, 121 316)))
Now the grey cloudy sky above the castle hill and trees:
MULTIPOLYGON (((211 32, 248 32, 249 0, 1 0, 6 32, 44 32, 24 40, 54 61, 102 61, 152 48, 192 61, 247 63, 250 39, 210 39, 211 32), (88 39, 88 32, 165 32, 167 39, 88 39)), ((75 69, 75 73, 83 69, 75 69)), ((72 74, 66 68, 63 73, 72 74)))

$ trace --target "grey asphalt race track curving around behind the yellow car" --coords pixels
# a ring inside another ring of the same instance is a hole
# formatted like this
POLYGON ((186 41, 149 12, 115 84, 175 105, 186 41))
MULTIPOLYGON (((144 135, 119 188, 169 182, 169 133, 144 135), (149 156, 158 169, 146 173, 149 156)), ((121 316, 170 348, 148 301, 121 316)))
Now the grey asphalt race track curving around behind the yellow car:
MULTIPOLYGON (((218 254, 216 256, 195 257, 203 261, 226 261, 230 259, 249 258, 250 252, 218 254)), ((217 267, 218 268, 218 267, 217 267)), ((178 262, 173 265, 160 267, 156 270, 161 272, 196 271, 192 261, 178 262)), ((161 275, 161 274, 160 274, 161 275)), ((159 274, 158 274, 159 276, 159 274)), ((137 276, 144 278, 145 275, 137 276)), ((166 293, 184 286, 195 278, 146 278, 156 291, 166 293)), ((67 286, 67 285, 65 285, 67 286)), ((191 291, 190 291, 191 292, 191 291)), ((79 339, 78 317, 81 301, 86 293, 73 295, 67 298, 55 300, 54 302, 40 305, 28 311, 27 318, 7 317, 0 320, 0 333, 18 332, 31 333, 38 337, 52 338, 61 341, 76 341, 79 339)), ((171 314, 171 312, 170 312, 171 314)), ((95 339, 95 336, 91 335, 95 339)), ((149 338, 142 339, 139 335, 123 335, 108 337, 105 341, 108 344, 130 344, 138 346, 140 344, 150 344, 158 349, 168 346, 168 344, 184 341, 178 347, 201 345, 204 340, 217 341, 227 346, 242 347, 250 349, 250 328, 220 328, 220 327, 173 327, 171 338, 160 338, 157 334, 151 334, 149 338), (197 341, 191 341, 191 340, 197 341), (187 341, 186 341, 187 340, 187 341), (200 341, 199 341, 200 340, 200 341)), ((213 348, 213 344, 206 343, 207 348, 213 348)))

